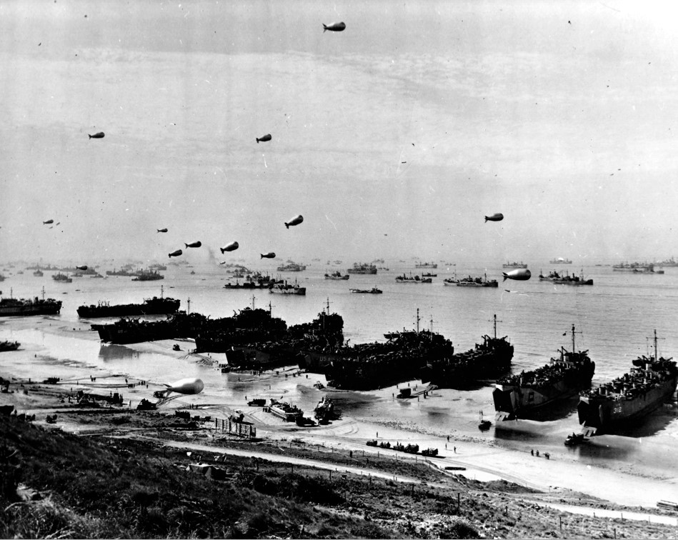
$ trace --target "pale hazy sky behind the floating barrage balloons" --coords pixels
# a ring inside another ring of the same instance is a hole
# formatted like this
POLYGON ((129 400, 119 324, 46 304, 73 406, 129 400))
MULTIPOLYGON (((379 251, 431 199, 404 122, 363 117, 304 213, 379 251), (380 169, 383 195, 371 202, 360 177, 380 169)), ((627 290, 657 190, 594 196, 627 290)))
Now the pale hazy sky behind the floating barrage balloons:
POLYGON ((0 262, 678 255, 676 10, 637 4, 3 3, 0 262))

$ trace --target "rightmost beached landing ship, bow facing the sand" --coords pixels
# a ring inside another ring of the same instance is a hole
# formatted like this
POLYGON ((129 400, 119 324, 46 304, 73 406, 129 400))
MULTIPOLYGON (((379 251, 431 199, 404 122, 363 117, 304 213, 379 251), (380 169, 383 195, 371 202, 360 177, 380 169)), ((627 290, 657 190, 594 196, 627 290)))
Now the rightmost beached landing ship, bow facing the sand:
POLYGON ((618 379, 579 394, 577 415, 585 436, 624 428, 672 398, 678 369, 672 359, 657 357, 656 330, 654 356, 640 356, 633 365, 629 373, 618 379))

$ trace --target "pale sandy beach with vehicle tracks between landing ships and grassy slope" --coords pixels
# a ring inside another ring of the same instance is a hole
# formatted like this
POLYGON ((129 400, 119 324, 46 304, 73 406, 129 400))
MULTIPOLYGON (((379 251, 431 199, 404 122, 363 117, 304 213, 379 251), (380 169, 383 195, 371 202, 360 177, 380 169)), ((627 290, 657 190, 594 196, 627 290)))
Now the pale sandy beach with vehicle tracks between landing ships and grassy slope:
MULTIPOLYGON (((38 321, 31 320, 30 324, 34 325, 36 322, 38 321)), ((28 321, 26 324, 29 324, 28 321)), ((51 324, 53 321, 49 319, 39 320, 41 330, 46 331, 45 335, 49 335, 51 331, 63 331, 56 326, 50 326, 51 324)), ((86 332, 84 325, 69 332, 77 334, 78 339, 74 339, 74 343, 77 343, 80 349, 100 346, 96 334, 86 332)), ((262 375, 253 375, 249 372, 224 375, 216 369, 218 362, 216 355, 215 359, 207 355, 186 356, 186 351, 190 348, 191 343, 186 341, 134 344, 125 348, 126 354, 131 356, 135 353, 164 356, 166 363, 173 366, 173 373, 176 373, 176 366, 183 366, 183 372, 187 375, 203 374, 206 379, 205 391, 195 396, 179 396, 160 406, 159 411, 166 414, 174 414, 177 409, 193 408, 199 409, 201 415, 211 416, 213 419, 226 419, 235 411, 242 411, 246 421, 251 421, 256 426, 257 435, 266 441, 295 439, 309 447, 364 451, 366 454, 385 453, 398 456, 399 459, 422 459, 422 457, 414 458, 393 450, 377 449, 367 446, 366 442, 376 439, 392 444, 396 442, 418 444, 422 449, 429 447, 438 449, 439 456, 444 459, 429 461, 441 469, 444 466, 464 467, 466 470, 460 474, 472 479, 481 481, 504 479, 545 494, 561 494, 559 497, 568 492, 577 492, 587 494, 592 499, 602 499, 602 504, 603 501, 609 501, 624 506, 652 508, 661 499, 669 501, 675 499, 678 492, 678 475, 674 470, 673 460, 670 459, 671 449, 657 444, 642 446, 642 439, 638 441, 637 448, 627 449, 628 452, 633 451, 635 456, 633 461, 629 461, 626 455, 622 456, 624 459, 614 457, 599 459, 597 466, 579 461, 575 459, 577 450, 573 452, 572 449, 562 445, 567 433, 553 434, 554 441, 559 440, 560 444, 557 442, 542 444, 539 446, 541 456, 532 456, 530 446, 523 442, 525 437, 509 446, 499 444, 490 434, 480 432, 476 422, 469 421, 467 412, 460 415, 458 423, 449 432, 422 429, 416 421, 407 418, 408 408, 435 409, 451 400, 454 402, 459 396, 454 396, 452 390, 436 390, 429 394, 427 399, 419 401, 395 399, 393 394, 397 390, 392 388, 367 393, 328 389, 320 391, 314 388, 314 384, 317 381, 324 382, 324 377, 301 374, 296 368, 264 372, 262 375), (175 343, 181 347, 179 353, 171 350, 175 343), (176 356, 177 354, 179 356, 176 356), (207 369, 210 371, 205 371, 207 369), (204 375, 209 372, 213 375, 207 379, 204 375), (326 395, 349 404, 350 410, 356 414, 344 411, 341 419, 327 426, 301 428, 267 414, 259 407, 246 406, 247 399, 255 396, 284 400, 286 396, 292 394, 305 397, 305 402, 297 403, 304 411, 309 411, 309 407, 312 408, 319 396, 326 395), (381 414, 371 413, 369 416, 359 414, 362 410, 361 402, 365 400, 377 400, 381 414), (549 452, 550 459, 544 457, 544 452, 549 452), (664 457, 666 460, 662 461, 664 457)), ((27 382, 31 379, 35 382, 47 377, 59 377, 61 380, 59 384, 54 385, 54 389, 63 391, 64 395, 79 390, 94 394, 121 392, 124 396, 124 406, 131 408, 136 408, 141 399, 155 401, 154 391, 164 389, 160 383, 162 379, 161 374, 157 373, 157 366, 149 368, 139 364, 136 372, 122 373, 81 361, 76 349, 60 351, 59 356, 56 358, 38 354, 30 346, 4 353, 3 376, 12 381, 11 389, 14 390, 21 388, 18 386, 21 381, 27 382)), ((220 358, 222 356, 219 355, 220 358)), ((412 383, 412 386, 415 384, 412 383)), ((46 414, 59 409, 59 405, 48 406, 37 396, 21 391, 1 394, 0 404, 14 404, 19 412, 36 414, 38 424, 44 424, 46 414)), ((64 403, 60 406, 67 405, 64 403)), ((420 410, 419 414, 421 412, 420 410)), ((506 438, 522 434, 527 436, 528 440, 529 435, 537 429, 549 430, 548 423, 540 425, 534 421, 520 421, 507 424, 511 425, 499 427, 493 425, 492 430, 507 431, 504 435, 506 438)), ((86 429, 93 429, 91 426, 88 428, 77 424, 61 424, 61 428, 80 433, 86 429)), ((601 451, 607 446, 599 441, 591 441, 589 444, 599 447, 601 451)), ((615 453, 619 453, 620 449, 624 450, 623 446, 615 449, 615 453)))

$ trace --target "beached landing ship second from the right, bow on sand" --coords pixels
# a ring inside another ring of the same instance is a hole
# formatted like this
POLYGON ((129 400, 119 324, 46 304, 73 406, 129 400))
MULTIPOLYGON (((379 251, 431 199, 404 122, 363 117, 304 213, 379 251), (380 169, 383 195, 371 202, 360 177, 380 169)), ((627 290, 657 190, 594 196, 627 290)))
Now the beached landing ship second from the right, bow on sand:
POLYGON ((499 379, 492 391, 496 419, 513 420, 555 401, 575 396, 591 384, 596 364, 589 351, 576 352, 572 325, 572 352, 560 348, 559 358, 534 371, 522 371, 499 379))

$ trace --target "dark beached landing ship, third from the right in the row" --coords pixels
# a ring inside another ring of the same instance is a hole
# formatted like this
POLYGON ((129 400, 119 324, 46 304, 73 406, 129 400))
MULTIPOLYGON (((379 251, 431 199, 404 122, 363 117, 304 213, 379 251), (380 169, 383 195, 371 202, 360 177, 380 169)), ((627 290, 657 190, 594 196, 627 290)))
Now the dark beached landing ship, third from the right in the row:
POLYGON ((487 379, 511 369, 513 345, 507 336, 497 337, 497 315, 494 315, 494 337, 482 336, 482 343, 473 349, 449 357, 428 361, 420 371, 422 383, 439 388, 460 388, 472 381, 487 379))

